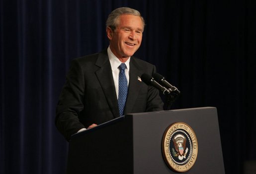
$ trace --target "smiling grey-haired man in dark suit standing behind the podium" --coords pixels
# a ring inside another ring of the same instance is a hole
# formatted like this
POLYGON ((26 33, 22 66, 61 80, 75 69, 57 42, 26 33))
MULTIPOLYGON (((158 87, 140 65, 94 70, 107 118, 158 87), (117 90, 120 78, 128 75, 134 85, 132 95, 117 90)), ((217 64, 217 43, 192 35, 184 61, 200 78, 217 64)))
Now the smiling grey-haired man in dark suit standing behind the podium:
POLYGON ((144 73, 153 75, 156 67, 133 56, 144 26, 139 11, 117 8, 106 22, 109 47, 72 61, 55 119, 67 140, 74 133, 125 114, 163 110, 159 91, 140 79, 144 73))

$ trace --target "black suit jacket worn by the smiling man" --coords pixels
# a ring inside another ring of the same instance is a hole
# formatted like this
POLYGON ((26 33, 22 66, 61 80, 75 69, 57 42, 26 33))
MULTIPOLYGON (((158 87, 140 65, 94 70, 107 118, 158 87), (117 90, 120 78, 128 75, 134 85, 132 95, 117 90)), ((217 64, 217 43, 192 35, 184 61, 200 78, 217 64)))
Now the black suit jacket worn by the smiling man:
MULTIPOLYGON (((138 80, 143 73, 155 72, 154 65, 131 57, 124 114, 163 110, 159 91, 138 80)), ((56 109, 58 130, 69 140, 82 128, 117 117, 118 102, 107 51, 74 59, 56 109)))

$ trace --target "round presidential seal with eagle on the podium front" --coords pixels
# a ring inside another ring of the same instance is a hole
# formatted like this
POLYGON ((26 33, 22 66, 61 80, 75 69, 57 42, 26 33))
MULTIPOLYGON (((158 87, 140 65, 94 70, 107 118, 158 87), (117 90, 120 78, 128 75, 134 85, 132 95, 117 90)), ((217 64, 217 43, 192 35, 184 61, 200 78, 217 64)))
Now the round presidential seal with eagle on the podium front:
POLYGON ((197 151, 197 139, 190 126, 178 122, 167 128, 162 140, 162 153, 170 169, 188 171, 196 161, 197 151))

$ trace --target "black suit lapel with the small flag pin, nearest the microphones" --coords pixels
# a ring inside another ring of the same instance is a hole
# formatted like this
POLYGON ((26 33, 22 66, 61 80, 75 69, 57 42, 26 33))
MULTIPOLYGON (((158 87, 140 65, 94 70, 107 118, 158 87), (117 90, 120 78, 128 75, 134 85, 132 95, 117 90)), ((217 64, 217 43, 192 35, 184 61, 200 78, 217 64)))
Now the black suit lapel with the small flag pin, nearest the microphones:
POLYGON ((135 59, 131 57, 130 60, 130 70, 129 70, 129 88, 128 95, 126 99, 124 114, 128 114, 132 112, 134 107, 134 103, 138 97, 140 91, 140 82, 138 77, 141 76, 141 72, 139 70, 139 65, 136 63, 135 59))

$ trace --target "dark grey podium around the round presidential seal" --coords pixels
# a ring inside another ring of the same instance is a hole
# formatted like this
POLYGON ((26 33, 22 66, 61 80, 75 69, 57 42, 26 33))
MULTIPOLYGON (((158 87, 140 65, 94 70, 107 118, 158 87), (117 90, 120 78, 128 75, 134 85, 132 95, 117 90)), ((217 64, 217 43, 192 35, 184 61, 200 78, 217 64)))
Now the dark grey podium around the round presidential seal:
POLYGON ((162 153, 174 123, 194 131, 197 158, 184 174, 225 174, 217 109, 202 107, 129 114, 72 135, 67 174, 176 174, 162 153))

